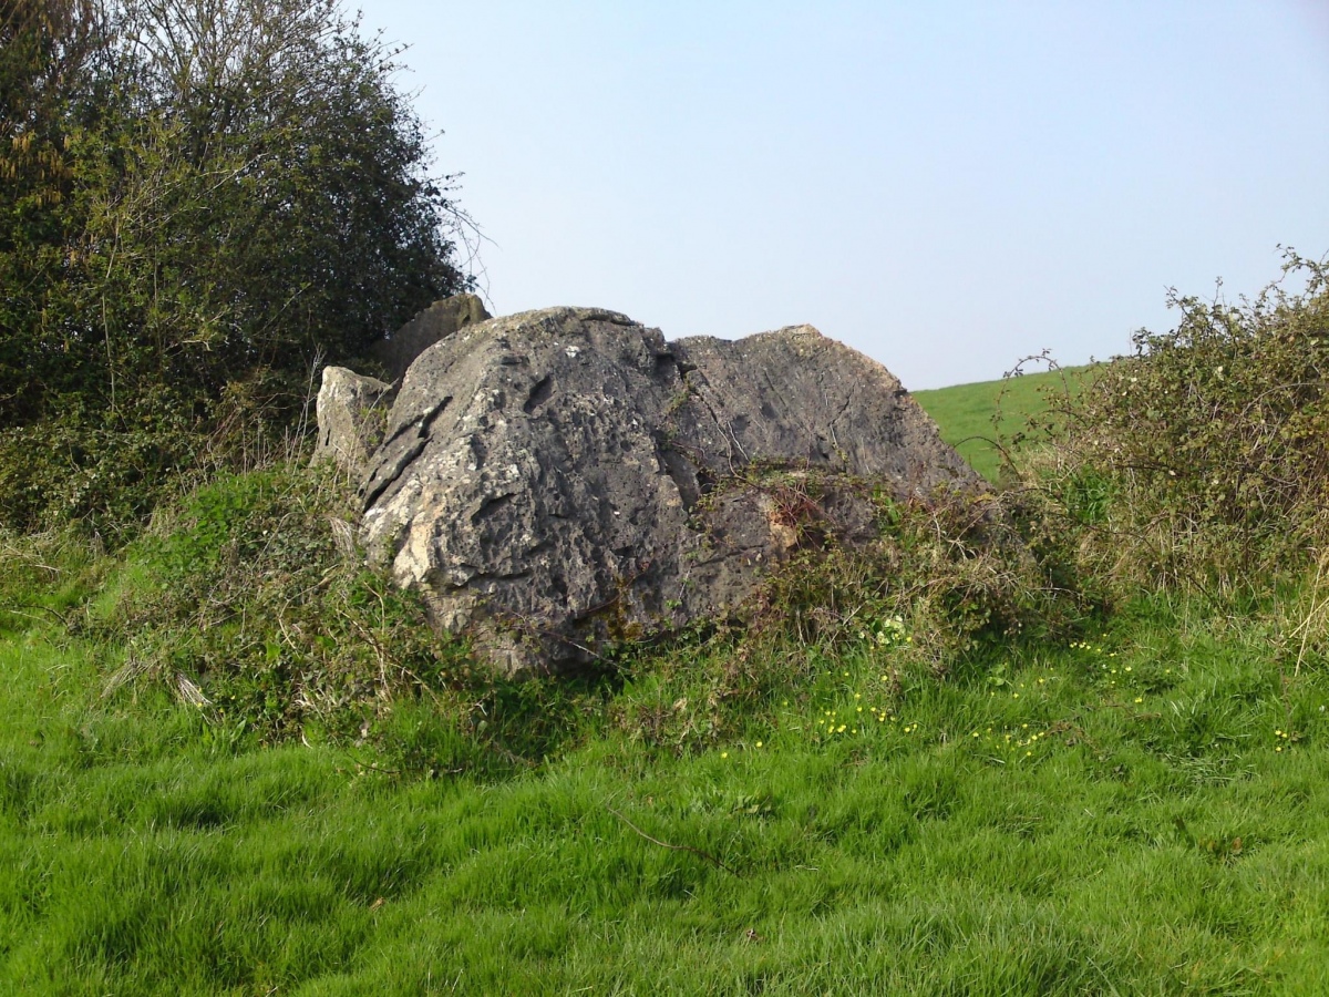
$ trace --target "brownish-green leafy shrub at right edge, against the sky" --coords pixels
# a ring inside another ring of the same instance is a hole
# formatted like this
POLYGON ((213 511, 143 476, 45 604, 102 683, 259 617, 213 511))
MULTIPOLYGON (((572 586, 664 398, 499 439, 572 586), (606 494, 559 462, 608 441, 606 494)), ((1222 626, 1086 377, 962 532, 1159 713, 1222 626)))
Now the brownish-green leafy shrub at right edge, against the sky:
POLYGON ((1180 322, 1053 399, 1023 459, 1047 552, 1118 590, 1256 584, 1324 542, 1329 501, 1329 266, 1288 253, 1236 304, 1175 292, 1180 322), (1055 420, 1055 424, 1051 423, 1055 420))

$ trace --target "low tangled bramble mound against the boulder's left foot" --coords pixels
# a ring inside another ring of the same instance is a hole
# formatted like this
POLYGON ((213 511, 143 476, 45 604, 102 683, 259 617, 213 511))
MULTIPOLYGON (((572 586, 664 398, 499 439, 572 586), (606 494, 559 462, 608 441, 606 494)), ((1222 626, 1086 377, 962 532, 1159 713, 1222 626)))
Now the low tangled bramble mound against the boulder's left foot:
POLYGON ((217 722, 283 739, 437 685, 453 647, 364 569, 343 493, 287 464, 163 506, 126 552, 134 577, 84 619, 126 647, 109 689, 165 682, 217 722))

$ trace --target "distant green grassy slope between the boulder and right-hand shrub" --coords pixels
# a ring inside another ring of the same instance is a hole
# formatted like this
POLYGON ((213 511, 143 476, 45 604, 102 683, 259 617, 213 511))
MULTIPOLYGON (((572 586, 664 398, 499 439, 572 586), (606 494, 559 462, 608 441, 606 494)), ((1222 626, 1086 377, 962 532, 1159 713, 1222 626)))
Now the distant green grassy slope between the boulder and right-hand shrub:
POLYGON ((916 391, 913 396, 937 420, 946 443, 958 449, 978 473, 995 481, 1001 437, 1019 432, 1026 415, 1042 411, 1045 389, 1074 389, 1087 370, 1069 367, 1006 380, 916 391), (994 425, 993 416, 997 413, 1002 419, 994 425))

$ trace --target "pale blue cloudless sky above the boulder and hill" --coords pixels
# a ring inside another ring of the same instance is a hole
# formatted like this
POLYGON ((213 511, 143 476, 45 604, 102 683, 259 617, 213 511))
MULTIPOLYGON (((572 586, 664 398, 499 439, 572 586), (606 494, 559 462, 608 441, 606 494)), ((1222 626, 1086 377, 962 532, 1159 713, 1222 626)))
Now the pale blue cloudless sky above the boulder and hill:
POLYGON ((1329 251, 1329 3, 365 0, 492 310, 809 322, 910 388, 1329 251))

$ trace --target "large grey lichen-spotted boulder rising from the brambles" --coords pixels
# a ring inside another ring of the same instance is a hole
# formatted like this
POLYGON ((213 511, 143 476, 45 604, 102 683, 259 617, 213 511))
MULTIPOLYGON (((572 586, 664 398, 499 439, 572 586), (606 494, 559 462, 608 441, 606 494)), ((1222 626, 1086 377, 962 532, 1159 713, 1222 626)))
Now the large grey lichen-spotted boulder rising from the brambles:
POLYGON ((557 671, 742 606, 804 518, 772 467, 816 476, 817 514, 851 538, 870 534, 852 479, 901 497, 982 487, 885 367, 811 326, 666 343, 617 312, 549 308, 466 326, 411 366, 360 541, 500 667, 557 671))

